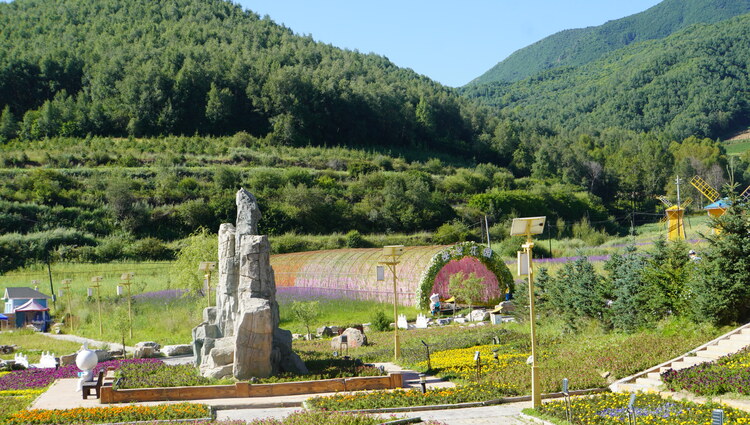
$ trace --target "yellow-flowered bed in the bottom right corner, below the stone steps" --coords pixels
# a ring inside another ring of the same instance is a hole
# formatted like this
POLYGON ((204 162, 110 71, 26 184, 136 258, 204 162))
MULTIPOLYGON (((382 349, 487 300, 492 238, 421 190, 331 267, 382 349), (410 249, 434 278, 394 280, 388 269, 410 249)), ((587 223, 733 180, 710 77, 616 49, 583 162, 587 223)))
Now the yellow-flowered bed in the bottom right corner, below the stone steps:
MULTIPOLYGON (((622 425, 628 423, 630 394, 601 394, 591 397, 573 397, 571 411, 573 423, 579 425, 622 425)), ((699 405, 690 402, 661 398, 658 394, 639 394, 635 414, 638 423, 649 425, 705 425, 711 423, 713 409, 724 409, 725 423, 750 423, 750 413, 718 404, 699 405)), ((547 402, 537 411, 541 416, 566 419, 565 402, 547 402)))

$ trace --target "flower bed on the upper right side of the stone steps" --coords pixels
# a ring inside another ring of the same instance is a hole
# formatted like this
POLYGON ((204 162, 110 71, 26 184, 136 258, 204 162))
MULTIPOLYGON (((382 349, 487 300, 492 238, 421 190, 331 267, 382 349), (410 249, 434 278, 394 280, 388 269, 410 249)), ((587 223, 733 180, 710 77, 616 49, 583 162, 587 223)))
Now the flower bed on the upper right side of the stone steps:
POLYGON ((690 391, 697 395, 726 393, 750 394, 750 348, 724 356, 715 362, 682 369, 669 369, 661 375, 670 391, 690 391))

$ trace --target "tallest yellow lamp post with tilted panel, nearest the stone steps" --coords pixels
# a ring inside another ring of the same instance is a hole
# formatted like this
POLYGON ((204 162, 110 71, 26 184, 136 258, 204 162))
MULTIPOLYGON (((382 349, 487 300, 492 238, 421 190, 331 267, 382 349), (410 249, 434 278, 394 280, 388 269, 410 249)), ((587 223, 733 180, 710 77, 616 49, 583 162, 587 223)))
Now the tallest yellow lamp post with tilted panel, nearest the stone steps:
POLYGON ((526 243, 521 245, 523 251, 518 251, 518 274, 526 275, 529 280, 529 328, 531 333, 531 402, 534 408, 542 406, 542 395, 539 383, 539 367, 536 355, 536 324, 534 318, 534 267, 532 250, 534 242, 531 235, 538 235, 544 231, 546 217, 514 218, 511 225, 511 236, 526 236, 526 243))

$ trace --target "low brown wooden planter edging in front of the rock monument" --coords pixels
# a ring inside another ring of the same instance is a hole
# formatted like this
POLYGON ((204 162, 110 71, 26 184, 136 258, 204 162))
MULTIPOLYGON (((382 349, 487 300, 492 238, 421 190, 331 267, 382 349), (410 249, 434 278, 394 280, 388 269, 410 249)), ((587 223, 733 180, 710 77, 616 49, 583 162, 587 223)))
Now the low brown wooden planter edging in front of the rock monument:
POLYGON ((133 403, 141 401, 207 400, 215 398, 268 397, 296 394, 319 394, 339 391, 384 390, 403 387, 400 373, 388 376, 324 379, 320 381, 281 382, 276 384, 209 385, 205 387, 137 388, 115 390, 102 386, 100 402, 133 403))

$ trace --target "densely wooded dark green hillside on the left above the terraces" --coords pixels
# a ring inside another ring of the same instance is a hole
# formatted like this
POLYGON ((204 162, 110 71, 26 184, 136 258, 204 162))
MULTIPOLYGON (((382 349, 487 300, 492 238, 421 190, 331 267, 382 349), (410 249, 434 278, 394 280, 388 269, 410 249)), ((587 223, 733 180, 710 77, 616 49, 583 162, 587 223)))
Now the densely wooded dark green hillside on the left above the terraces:
POLYGON ((0 4, 0 28, 0 138, 242 130, 287 145, 487 151, 486 116, 451 89, 229 1, 16 0, 0 4))

